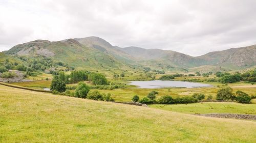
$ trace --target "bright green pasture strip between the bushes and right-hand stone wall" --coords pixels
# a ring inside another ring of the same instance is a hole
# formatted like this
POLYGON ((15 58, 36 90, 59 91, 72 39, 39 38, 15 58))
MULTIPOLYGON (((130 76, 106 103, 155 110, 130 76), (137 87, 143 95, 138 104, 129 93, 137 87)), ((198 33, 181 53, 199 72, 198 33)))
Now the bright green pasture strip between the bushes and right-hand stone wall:
POLYGON ((241 104, 235 102, 203 102, 193 104, 150 105, 168 111, 196 114, 196 113, 241 113, 256 115, 256 104, 241 104))

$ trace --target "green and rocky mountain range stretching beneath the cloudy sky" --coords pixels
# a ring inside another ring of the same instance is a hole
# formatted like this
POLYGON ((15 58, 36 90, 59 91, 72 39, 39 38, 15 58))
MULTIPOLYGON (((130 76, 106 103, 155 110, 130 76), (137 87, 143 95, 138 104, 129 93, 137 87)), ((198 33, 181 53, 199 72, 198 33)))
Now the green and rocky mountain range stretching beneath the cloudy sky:
POLYGON ((49 56, 76 68, 129 69, 150 67, 159 70, 245 69, 256 65, 256 45, 190 56, 172 50, 112 46, 99 37, 74 38, 57 42, 35 40, 4 51, 9 55, 49 56))

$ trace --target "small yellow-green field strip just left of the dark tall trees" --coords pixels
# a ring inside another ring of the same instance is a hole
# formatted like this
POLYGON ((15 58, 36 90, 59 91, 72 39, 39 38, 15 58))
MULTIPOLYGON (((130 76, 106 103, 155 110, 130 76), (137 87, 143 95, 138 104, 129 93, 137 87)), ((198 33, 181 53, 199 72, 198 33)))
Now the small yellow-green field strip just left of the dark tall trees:
POLYGON ((26 82, 12 82, 11 84, 19 85, 27 88, 50 88, 51 80, 39 80, 39 81, 26 81, 26 82))

